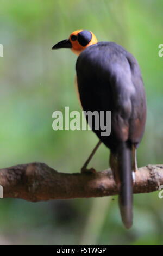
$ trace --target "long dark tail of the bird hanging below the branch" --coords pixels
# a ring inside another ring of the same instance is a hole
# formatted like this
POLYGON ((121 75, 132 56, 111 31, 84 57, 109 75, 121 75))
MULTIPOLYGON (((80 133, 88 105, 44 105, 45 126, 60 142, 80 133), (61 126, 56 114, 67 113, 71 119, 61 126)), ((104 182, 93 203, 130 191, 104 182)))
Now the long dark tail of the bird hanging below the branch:
POLYGON ((133 178, 131 146, 122 142, 118 149, 118 170, 120 175, 119 205, 123 224, 130 228, 133 224, 133 178))

